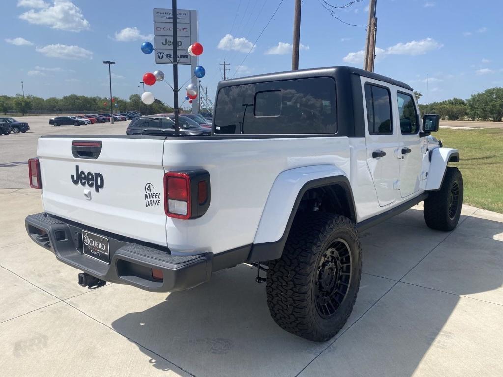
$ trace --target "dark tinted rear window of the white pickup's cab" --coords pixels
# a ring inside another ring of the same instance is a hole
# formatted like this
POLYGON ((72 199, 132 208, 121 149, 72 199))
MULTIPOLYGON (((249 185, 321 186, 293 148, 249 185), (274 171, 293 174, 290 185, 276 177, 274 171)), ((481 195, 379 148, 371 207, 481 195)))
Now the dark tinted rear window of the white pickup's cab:
POLYGON ((218 91, 216 134, 333 134, 336 85, 331 77, 229 86, 218 91))

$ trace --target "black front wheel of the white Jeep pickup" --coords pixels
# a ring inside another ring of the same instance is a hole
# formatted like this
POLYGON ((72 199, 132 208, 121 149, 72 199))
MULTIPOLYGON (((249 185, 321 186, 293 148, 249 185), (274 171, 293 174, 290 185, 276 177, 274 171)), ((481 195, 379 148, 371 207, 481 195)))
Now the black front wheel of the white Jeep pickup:
POLYGON ((451 231, 456 228, 463 205, 463 177, 457 167, 449 166, 439 191, 430 192, 425 200, 425 221, 432 229, 451 231))

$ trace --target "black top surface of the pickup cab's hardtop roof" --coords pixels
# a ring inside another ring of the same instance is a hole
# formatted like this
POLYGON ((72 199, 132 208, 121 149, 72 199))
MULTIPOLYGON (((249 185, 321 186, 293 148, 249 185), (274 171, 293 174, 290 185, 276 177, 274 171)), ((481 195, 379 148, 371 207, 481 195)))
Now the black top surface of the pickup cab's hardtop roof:
POLYGON ((369 72, 364 69, 348 67, 348 66, 337 66, 337 67, 323 67, 323 68, 307 68, 307 69, 299 69, 295 71, 283 71, 283 72, 275 72, 275 73, 265 73, 258 74, 254 76, 246 76, 239 78, 230 78, 227 80, 222 80, 218 83, 218 89, 227 86, 235 86, 235 85, 245 85, 245 84, 253 84, 257 82, 265 82, 265 81, 279 81, 279 80, 289 80, 295 78, 303 78, 303 77, 315 77, 315 76, 332 76, 336 78, 341 75, 350 75, 356 74, 359 76, 373 78, 375 80, 380 80, 392 85, 400 86, 408 90, 412 90, 412 88, 404 82, 392 79, 391 77, 383 76, 378 73, 369 72))

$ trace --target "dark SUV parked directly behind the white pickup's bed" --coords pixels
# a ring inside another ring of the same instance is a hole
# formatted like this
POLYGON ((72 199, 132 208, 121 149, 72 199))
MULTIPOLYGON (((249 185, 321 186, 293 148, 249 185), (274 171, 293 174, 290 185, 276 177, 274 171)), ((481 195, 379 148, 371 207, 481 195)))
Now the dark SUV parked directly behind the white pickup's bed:
MULTIPOLYGON (((126 129, 126 135, 157 135, 166 136, 175 133, 175 116, 144 116, 135 118, 126 129)), ((193 136, 208 136, 211 131, 199 126, 188 118, 180 117, 180 134, 193 136)))

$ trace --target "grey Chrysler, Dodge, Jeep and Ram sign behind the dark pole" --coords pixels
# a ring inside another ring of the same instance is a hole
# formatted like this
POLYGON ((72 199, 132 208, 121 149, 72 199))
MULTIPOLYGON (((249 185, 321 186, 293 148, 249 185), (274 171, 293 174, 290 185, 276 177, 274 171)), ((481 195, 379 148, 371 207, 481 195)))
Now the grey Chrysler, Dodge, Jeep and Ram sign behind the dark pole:
MULTIPOLYGON (((157 64, 173 64, 173 11, 154 9, 154 48, 157 64)), ((178 63, 191 64, 187 49, 197 42, 197 12, 179 9, 177 11, 178 63)))

